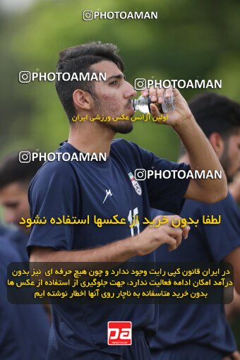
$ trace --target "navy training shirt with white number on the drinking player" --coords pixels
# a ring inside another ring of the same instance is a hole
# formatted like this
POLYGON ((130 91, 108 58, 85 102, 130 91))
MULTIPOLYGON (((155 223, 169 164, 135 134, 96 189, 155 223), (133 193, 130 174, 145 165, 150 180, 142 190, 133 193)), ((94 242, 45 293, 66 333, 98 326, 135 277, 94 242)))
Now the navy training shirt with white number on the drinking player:
MULTIPOLYGON (((77 152, 62 143, 59 152, 77 152)), ((76 216, 85 219, 94 215, 110 219, 132 219, 138 215, 138 227, 126 225, 37 225, 32 229, 31 246, 51 246, 56 250, 73 250, 102 246, 142 232, 144 217, 150 217, 150 206, 179 213, 189 180, 149 179, 136 181, 135 169, 184 169, 156 157, 123 139, 112 142, 107 161, 46 162, 37 172, 29 189, 31 216, 40 218, 76 216)), ((153 261, 154 253, 136 257, 135 261, 153 261)), ((52 306, 53 325, 49 338, 48 359, 105 359, 106 354, 121 354, 124 347, 107 345, 107 322, 128 320, 134 329, 154 332, 155 306, 90 305, 52 306), (85 357, 81 357, 85 356, 85 357)))

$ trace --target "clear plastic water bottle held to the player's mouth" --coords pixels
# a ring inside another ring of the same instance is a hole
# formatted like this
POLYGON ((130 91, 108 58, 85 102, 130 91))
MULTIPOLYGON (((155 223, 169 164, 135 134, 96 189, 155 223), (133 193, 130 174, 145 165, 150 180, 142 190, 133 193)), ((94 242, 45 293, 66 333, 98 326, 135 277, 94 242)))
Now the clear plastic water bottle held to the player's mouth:
POLYGON ((174 112, 174 110, 176 109, 175 97, 173 92, 171 96, 167 98, 166 91, 164 91, 164 102, 162 102, 162 104, 160 104, 159 102, 152 102, 149 95, 148 97, 140 96, 138 97, 138 99, 133 99, 131 101, 133 109, 135 111, 139 110, 143 114, 150 113, 150 104, 155 104, 161 114, 165 114, 167 112, 174 112))

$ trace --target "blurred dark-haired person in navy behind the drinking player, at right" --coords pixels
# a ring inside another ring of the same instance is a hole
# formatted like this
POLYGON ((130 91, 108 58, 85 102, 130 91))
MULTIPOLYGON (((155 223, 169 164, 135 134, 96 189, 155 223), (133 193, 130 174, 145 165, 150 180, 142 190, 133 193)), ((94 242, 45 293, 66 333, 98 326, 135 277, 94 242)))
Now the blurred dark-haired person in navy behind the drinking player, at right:
MULTIPOLYGON (((227 97, 203 94, 189 107, 232 181, 240 168, 240 105, 227 97)), ((179 162, 189 162, 184 147, 179 162)), ((240 293, 240 219, 232 195, 215 204, 186 200, 180 215, 221 215, 222 220, 220 224, 192 226, 188 240, 173 253, 165 246, 157 248, 156 260, 179 263, 191 259, 196 264, 225 260, 234 265, 234 286, 240 293)), ((239 359, 222 304, 160 304, 151 349, 153 360, 239 359)))

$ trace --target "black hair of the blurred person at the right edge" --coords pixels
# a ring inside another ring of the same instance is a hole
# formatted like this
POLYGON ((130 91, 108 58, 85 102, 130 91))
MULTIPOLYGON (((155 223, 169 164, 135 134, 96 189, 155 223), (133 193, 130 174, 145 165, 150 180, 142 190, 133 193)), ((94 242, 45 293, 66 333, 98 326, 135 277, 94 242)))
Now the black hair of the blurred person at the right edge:
MULTIPOLYGON (((207 138, 217 132, 227 141, 240 130, 240 104, 227 97, 205 92, 193 97, 188 105, 207 138)), ((181 155, 185 152, 181 144, 181 155)))

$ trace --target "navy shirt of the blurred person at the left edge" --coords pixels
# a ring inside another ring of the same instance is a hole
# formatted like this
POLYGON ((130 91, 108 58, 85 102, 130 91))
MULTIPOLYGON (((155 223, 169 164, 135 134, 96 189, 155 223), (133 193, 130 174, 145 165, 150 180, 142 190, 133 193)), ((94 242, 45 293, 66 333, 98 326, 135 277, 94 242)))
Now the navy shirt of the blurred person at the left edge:
POLYGON ((7 299, 7 267, 23 261, 8 236, 0 229, 0 359, 45 360, 49 320, 42 305, 11 304, 7 299))

